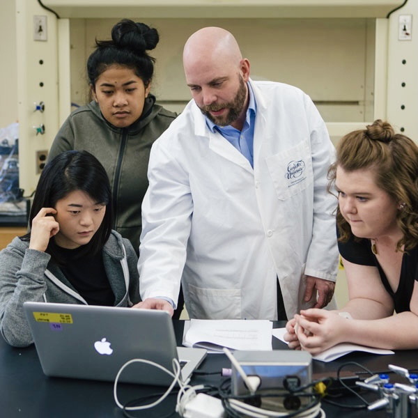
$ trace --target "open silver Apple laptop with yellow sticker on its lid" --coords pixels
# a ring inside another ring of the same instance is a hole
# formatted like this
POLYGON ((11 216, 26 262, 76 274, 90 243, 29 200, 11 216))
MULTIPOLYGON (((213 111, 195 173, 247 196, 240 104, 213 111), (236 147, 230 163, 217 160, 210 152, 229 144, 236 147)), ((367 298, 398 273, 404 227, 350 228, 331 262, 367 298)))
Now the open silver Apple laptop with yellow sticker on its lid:
MULTIPOLYGON (((206 356, 206 350, 176 346, 165 311, 44 302, 24 302, 23 308, 47 376, 114 381, 131 359, 148 359, 173 371, 175 358, 187 382, 206 356)), ((119 381, 166 386, 173 378, 134 362, 119 381)))

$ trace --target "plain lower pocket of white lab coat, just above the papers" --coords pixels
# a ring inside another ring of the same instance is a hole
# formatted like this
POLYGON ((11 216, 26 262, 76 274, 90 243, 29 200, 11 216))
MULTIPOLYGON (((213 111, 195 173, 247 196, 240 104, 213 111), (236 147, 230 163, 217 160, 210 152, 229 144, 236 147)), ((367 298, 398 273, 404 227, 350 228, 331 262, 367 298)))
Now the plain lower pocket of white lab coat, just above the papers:
POLYGON ((241 319, 240 289, 199 288, 189 284, 190 318, 241 319))

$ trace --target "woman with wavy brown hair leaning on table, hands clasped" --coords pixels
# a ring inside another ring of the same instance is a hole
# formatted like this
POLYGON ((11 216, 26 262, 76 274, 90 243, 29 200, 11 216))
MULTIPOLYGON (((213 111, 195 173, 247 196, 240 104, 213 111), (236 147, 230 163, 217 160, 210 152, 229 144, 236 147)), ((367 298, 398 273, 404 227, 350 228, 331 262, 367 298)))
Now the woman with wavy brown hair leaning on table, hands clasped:
POLYGON ((418 348, 418 147, 377 120, 343 137, 336 153, 329 189, 349 301, 341 311, 301 311, 285 339, 313 355, 343 342, 418 348))

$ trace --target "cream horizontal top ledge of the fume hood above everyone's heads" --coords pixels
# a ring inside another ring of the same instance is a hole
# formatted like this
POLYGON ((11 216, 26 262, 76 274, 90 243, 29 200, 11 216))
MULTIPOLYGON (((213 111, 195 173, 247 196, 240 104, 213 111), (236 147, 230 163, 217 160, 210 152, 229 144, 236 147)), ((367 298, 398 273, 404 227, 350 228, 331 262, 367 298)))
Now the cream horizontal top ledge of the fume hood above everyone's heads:
POLYGON ((60 17, 386 17, 401 0, 44 0, 60 17))

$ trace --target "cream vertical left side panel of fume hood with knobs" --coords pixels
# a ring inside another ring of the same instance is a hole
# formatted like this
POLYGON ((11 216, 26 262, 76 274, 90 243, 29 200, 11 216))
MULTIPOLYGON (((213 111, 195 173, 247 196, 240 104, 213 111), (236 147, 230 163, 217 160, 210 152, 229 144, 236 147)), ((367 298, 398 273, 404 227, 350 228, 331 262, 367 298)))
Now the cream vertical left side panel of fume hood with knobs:
POLYGON ((31 194, 38 183, 36 153, 48 150, 59 127, 58 31, 56 18, 36 1, 16 0, 17 111, 19 117, 20 187, 31 194), (47 18, 47 40, 33 40, 33 16, 47 18), (35 103, 45 111, 34 111, 35 103), (45 126, 45 134, 36 127, 45 126))

